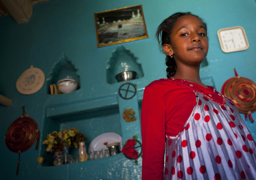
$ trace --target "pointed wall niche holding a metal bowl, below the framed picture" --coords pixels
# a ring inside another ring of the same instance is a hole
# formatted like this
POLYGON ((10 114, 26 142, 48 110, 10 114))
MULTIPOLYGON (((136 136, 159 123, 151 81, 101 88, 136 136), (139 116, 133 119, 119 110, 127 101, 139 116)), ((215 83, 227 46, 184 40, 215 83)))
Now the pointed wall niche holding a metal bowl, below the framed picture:
POLYGON ((109 65, 106 70, 107 83, 113 84, 142 78, 143 69, 141 64, 137 63, 137 59, 129 50, 118 46, 107 62, 109 65))

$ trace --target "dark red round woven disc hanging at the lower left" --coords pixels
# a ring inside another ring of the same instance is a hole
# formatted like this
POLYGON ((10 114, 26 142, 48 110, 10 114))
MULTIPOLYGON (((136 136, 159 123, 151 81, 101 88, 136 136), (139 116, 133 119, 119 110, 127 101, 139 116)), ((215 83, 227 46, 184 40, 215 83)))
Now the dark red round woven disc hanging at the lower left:
POLYGON ((12 152, 21 153, 32 147, 39 134, 36 121, 30 117, 22 116, 7 129, 6 145, 12 152))

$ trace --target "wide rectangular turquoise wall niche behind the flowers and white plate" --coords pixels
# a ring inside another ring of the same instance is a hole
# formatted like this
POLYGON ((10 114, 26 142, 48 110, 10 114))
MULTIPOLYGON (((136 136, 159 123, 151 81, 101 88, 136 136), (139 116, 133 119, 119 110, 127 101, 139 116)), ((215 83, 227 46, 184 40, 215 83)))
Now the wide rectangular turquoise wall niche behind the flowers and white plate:
MULTIPOLYGON (((81 106, 81 103, 74 103, 71 106, 59 104, 59 106, 55 107, 55 110, 59 112, 57 109, 60 109, 60 112, 62 111, 62 113, 55 115, 50 113, 52 112, 51 110, 53 109, 53 106, 47 106, 45 109, 47 117, 44 120, 43 131, 41 132, 42 141, 47 139, 47 134, 53 131, 59 132, 63 129, 76 127, 79 132, 83 133, 87 138, 85 146, 88 153, 90 143, 97 136, 108 132, 113 132, 122 136, 119 107, 117 105, 73 111, 74 109, 78 109, 78 106, 81 106), (68 109, 72 109, 73 112, 68 112, 68 109)), ((47 145, 41 144, 40 156, 45 158, 42 166, 54 166, 54 152, 47 152, 45 150, 46 147, 47 145)), ((79 154, 78 149, 75 147, 70 147, 69 154, 79 154)), ((87 161, 79 163, 91 163, 94 160, 103 162, 109 161, 109 158, 111 157, 88 159, 87 161)))

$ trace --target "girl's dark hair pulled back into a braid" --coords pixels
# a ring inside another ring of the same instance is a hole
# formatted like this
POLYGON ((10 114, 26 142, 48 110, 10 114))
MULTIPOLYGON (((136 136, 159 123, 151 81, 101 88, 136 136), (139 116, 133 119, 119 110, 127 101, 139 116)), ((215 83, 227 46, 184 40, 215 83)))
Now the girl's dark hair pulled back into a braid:
MULTIPOLYGON (((162 48, 163 48, 164 44, 171 44, 171 36, 170 35, 171 35, 173 27, 174 27, 175 23, 177 22, 178 18, 180 18, 182 16, 186 16, 186 15, 191 15, 191 16, 195 16, 195 17, 199 18, 203 22, 203 25, 205 27, 206 34, 207 34, 207 25, 200 17, 193 15, 190 12, 175 13, 175 14, 171 15, 170 17, 166 18, 157 28, 156 38, 157 38, 159 45, 161 46, 162 51, 163 51, 162 48)), ((166 66, 168 66, 166 68, 167 78, 174 76, 176 73, 176 62, 175 62, 174 58, 171 58, 170 56, 166 56, 165 64, 166 64, 166 66)))

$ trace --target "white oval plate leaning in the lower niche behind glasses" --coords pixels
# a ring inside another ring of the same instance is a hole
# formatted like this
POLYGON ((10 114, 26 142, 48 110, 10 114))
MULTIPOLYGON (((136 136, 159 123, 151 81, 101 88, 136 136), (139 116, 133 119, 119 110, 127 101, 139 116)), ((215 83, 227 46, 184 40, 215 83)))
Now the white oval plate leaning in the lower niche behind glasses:
POLYGON ((119 148, 120 151, 122 150, 122 137, 116 133, 108 132, 97 136, 93 141, 90 143, 88 152, 99 151, 101 149, 108 149, 104 143, 107 142, 108 144, 114 142, 120 142, 119 148))

